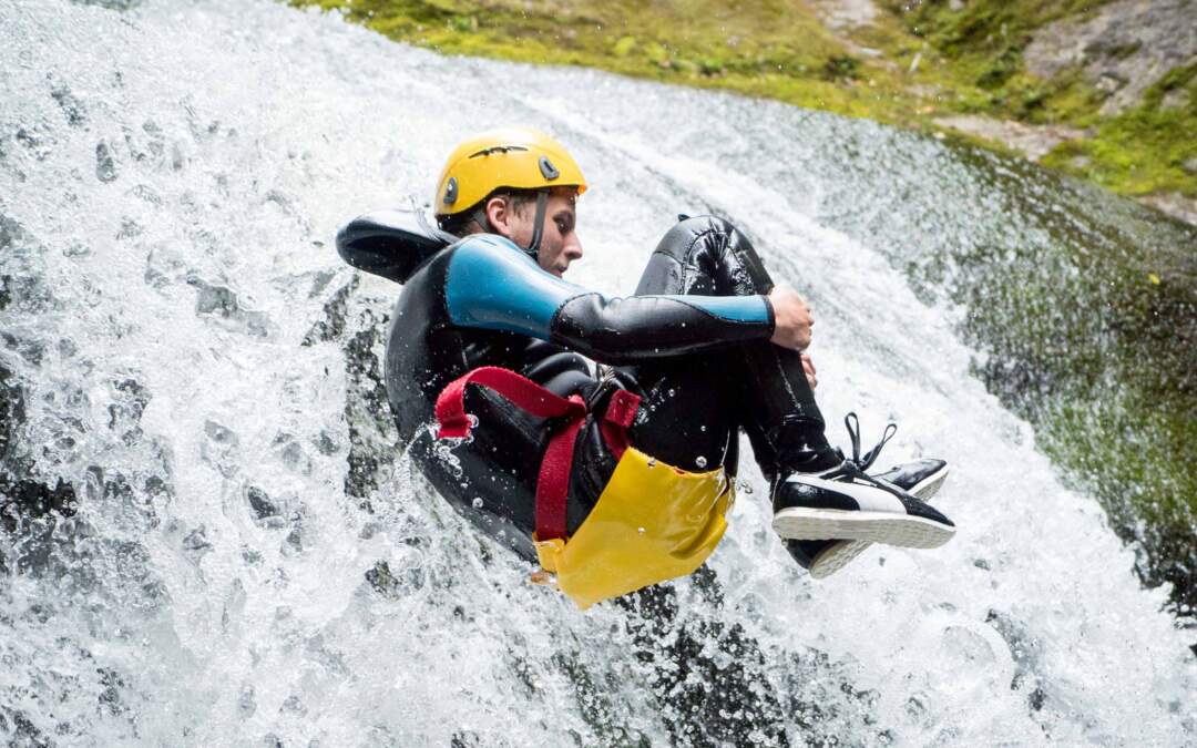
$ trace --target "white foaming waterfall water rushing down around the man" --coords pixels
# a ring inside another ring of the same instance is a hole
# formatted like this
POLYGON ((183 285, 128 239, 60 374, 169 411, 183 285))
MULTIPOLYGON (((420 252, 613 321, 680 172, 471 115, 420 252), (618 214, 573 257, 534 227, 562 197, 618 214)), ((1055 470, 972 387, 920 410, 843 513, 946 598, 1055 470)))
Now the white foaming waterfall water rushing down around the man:
POLYGON ((1017 230, 944 146, 439 57, 269 2, 0 0, 0 364, 25 411, 10 457, 79 494, 71 518, 0 533, 6 738, 1197 741, 1166 591, 968 375, 955 312, 892 267, 876 226, 901 231, 904 209, 954 213, 944 236, 1017 230), (571 280, 630 292, 679 212, 746 227, 815 306, 833 440, 855 408, 867 437, 900 424, 882 462, 949 460, 936 503, 958 537, 813 582, 746 458, 715 580, 675 584, 652 641, 621 607, 528 584, 391 466, 370 367, 397 286, 354 285, 332 237, 425 202, 457 140, 505 123, 557 135, 590 181, 571 280), (868 231, 843 229, 852 214, 868 231), (346 489, 351 446, 364 491, 346 489))

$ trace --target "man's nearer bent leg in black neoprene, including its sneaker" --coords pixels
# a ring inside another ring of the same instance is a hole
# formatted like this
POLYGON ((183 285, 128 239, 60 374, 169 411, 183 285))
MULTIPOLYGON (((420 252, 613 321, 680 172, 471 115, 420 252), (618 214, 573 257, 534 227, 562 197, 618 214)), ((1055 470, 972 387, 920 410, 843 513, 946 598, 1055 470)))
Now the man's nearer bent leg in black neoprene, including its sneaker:
MULTIPOLYGON (((666 235, 637 293, 755 294, 772 287, 742 233, 727 221, 700 218, 683 220, 666 235)), ((636 376, 650 407, 633 430, 633 440, 662 458, 675 455, 679 467, 693 469, 679 454, 691 448, 687 436, 693 426, 687 430, 681 424, 693 425, 697 415, 701 431, 709 414, 721 408, 725 415, 719 436, 734 442, 739 420, 772 484, 773 527, 783 537, 911 547, 935 547, 952 537, 954 527, 947 517, 901 488, 871 479, 831 448, 796 352, 761 341, 729 353, 642 365, 636 376), (688 396, 670 402, 679 391, 675 383, 682 379, 689 383, 688 396), (693 390, 704 383, 705 396, 695 396, 693 390)), ((809 559, 809 553, 798 551, 791 547, 800 562, 809 559)))

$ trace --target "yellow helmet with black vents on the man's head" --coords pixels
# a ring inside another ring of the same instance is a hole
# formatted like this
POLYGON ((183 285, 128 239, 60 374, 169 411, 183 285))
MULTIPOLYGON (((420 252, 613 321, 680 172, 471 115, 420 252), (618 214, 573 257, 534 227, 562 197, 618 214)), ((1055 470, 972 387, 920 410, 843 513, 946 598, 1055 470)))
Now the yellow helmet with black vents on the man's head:
POLYGON ((461 213, 500 187, 577 187, 581 195, 587 181, 570 152, 545 133, 527 127, 487 130, 449 156, 437 181, 436 214, 461 213))

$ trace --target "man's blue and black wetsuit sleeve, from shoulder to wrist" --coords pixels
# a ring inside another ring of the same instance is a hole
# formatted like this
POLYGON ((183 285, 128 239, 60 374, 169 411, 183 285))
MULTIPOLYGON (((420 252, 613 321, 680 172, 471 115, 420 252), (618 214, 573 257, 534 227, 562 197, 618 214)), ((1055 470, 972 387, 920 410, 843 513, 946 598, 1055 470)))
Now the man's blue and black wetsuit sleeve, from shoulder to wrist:
POLYGON ((470 237, 454 250, 445 303, 454 324, 548 340, 612 364, 773 334, 773 310, 762 296, 608 298, 545 272, 492 235, 470 237))

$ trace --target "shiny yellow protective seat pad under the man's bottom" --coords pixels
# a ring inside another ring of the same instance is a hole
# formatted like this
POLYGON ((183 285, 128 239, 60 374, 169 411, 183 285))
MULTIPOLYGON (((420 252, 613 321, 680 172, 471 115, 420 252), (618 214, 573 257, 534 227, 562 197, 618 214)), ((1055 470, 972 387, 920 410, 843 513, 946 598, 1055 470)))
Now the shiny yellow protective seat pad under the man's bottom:
POLYGON ((723 469, 689 473, 628 448, 569 541, 536 543, 541 567, 579 608, 693 573, 728 528, 723 469))

